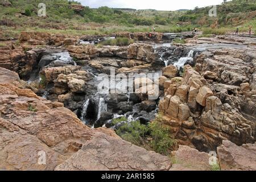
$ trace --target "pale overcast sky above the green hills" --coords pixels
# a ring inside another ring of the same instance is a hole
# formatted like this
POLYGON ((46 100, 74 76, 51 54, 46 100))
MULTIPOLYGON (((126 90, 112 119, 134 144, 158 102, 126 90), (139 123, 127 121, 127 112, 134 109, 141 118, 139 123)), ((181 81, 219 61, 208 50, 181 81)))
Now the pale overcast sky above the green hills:
POLYGON ((84 6, 93 8, 108 7, 127 7, 133 9, 155 9, 155 10, 179 10, 194 9, 196 6, 205 7, 218 5, 223 0, 76 0, 84 6))

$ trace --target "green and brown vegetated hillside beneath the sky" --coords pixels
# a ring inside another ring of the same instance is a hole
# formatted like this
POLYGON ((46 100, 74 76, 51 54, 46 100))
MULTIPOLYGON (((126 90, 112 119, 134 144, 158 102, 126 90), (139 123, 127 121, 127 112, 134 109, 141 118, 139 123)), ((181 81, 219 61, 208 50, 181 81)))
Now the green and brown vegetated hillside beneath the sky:
MULTIPOLYGON (((61 34, 110 34, 117 31, 147 32, 152 27, 158 32, 204 30, 204 35, 225 34, 239 27, 256 32, 255 0, 233 0, 217 6, 217 17, 208 15, 211 7, 184 11, 156 11, 112 9, 100 7, 80 10, 78 2, 68 0, 9 0, 10 7, 0 5, 0 31, 3 37, 16 37, 20 31, 36 30, 61 34), (47 17, 39 17, 38 4, 46 4, 47 17), (14 28, 15 27, 15 28, 14 28), (211 27, 211 28, 210 28, 211 27)), ((113 43, 110 43, 113 44, 113 43)))

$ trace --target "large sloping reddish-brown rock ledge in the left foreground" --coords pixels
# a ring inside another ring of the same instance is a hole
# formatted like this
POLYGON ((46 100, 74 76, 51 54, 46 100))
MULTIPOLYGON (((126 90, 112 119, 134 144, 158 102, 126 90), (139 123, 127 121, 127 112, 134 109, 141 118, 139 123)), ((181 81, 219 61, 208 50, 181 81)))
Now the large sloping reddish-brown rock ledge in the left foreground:
POLYGON ((167 156, 92 130, 59 102, 44 100, 0 68, 0 170, 168 170, 167 156), (31 107, 36 111, 29 111, 31 107), (39 165, 40 152, 46 165, 39 165))

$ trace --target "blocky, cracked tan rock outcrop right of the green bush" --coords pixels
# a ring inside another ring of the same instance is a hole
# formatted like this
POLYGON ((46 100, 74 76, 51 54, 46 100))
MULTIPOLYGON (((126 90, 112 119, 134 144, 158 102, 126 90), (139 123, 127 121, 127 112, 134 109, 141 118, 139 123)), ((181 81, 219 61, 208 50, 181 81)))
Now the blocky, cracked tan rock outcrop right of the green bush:
POLYGON ((159 104, 175 138, 200 151, 216 150, 222 140, 240 145, 254 142, 254 121, 222 103, 219 93, 191 66, 184 69, 181 82, 172 78, 164 83, 165 97, 159 104))

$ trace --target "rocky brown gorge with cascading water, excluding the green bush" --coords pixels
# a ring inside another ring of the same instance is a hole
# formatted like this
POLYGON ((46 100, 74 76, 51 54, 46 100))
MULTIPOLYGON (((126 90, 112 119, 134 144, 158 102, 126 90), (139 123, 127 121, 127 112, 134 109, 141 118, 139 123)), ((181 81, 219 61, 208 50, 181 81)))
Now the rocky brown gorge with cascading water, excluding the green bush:
POLYGON ((255 170, 255 42, 188 32, 81 38, 22 32, 18 46, 0 47, 0 169, 210 170, 208 153, 216 151, 223 170, 255 170), (135 42, 97 46, 113 37, 135 42), (172 44, 176 37, 186 43, 172 44), (135 75, 138 89, 99 93, 98 78, 111 70, 135 75), (145 76, 160 72, 157 79, 145 76), (158 96, 148 100, 155 88, 158 96), (115 118, 147 124, 158 113, 177 142, 175 162, 112 130, 115 118), (49 156, 46 165, 38 164, 39 151, 49 156))

